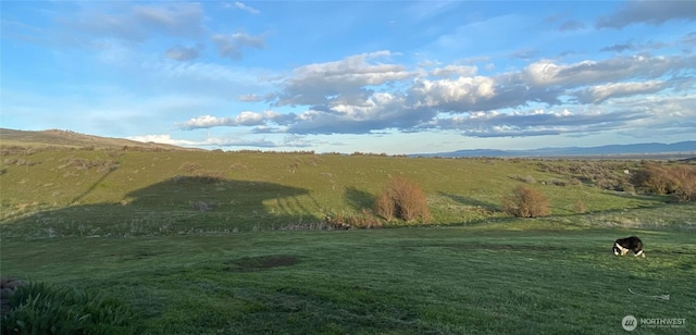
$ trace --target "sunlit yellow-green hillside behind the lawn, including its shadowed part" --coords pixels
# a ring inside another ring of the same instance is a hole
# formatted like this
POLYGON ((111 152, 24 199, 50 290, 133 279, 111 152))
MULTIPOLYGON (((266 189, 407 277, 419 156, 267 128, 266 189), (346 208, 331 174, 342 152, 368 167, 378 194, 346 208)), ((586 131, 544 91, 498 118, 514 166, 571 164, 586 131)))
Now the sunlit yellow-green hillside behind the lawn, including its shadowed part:
MULTIPOLYGON (((548 197, 554 215, 579 214, 579 201, 584 212, 666 201, 548 172, 554 171, 548 164, 568 162, 222 151, 29 153, 14 150, 2 157, 3 236, 302 227, 321 223, 326 215, 358 215, 372 209, 395 176, 421 185, 434 224, 505 218, 501 198, 520 184, 548 197)), ((621 177, 635 163, 601 164, 601 173, 621 177)))

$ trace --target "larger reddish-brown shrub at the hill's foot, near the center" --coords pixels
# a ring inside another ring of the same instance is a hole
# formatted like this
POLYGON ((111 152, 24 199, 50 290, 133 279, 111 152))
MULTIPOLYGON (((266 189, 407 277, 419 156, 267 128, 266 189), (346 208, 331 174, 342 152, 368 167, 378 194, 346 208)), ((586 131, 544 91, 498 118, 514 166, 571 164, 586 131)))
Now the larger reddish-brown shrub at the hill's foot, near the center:
POLYGON ((387 221, 398 218, 405 221, 420 219, 431 220, 427 198, 418 184, 406 178, 396 177, 389 181, 386 190, 377 197, 377 214, 387 221))

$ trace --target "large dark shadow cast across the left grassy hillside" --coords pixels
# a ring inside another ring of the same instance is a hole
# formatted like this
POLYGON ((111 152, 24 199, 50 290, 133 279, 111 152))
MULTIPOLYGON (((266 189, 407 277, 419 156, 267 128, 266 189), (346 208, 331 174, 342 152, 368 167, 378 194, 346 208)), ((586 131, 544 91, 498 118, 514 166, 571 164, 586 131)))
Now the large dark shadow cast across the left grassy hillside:
MULTIPOLYGON (((85 194, 91 191, 95 186, 85 194)), ((77 199, 85 194, 76 195, 77 199)), ((3 224, 2 236, 135 236, 310 228, 314 226, 309 225, 322 221, 313 216, 315 213, 308 207, 314 203, 308 202, 307 197, 307 189, 266 182, 176 176, 128 193, 120 202, 72 206, 17 218, 3 224)))

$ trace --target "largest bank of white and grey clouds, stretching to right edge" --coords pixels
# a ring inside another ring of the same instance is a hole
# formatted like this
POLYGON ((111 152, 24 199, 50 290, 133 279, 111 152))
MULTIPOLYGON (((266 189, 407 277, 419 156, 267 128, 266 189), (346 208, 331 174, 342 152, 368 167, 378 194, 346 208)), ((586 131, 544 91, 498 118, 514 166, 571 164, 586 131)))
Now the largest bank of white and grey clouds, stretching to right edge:
MULTIPOLYGON (((581 104, 599 104, 608 99, 663 90, 668 87, 666 82, 656 78, 668 73, 687 73, 692 66, 688 59, 680 57, 619 57, 569 64, 544 60, 521 71, 471 76, 476 72, 474 66, 451 64, 430 71, 408 71, 400 65, 374 61, 390 55, 388 51, 381 51, 296 69, 287 79, 281 80, 277 96, 285 100, 278 100, 277 104, 307 106, 303 112, 204 116, 190 120, 182 127, 244 125, 256 126, 257 133, 288 134, 442 128, 482 137, 574 134, 650 117, 637 109, 612 108, 595 114, 576 110, 581 104), (414 79, 408 82, 409 78, 414 79), (575 100, 568 101, 568 97, 575 100), (559 106, 562 112, 538 109, 519 112, 529 110, 526 106, 531 103, 559 106), (443 116, 445 114, 449 116, 443 116), (573 128, 574 125, 577 127, 573 128)), ((678 80, 669 87, 689 90, 693 89, 689 83, 678 80)))

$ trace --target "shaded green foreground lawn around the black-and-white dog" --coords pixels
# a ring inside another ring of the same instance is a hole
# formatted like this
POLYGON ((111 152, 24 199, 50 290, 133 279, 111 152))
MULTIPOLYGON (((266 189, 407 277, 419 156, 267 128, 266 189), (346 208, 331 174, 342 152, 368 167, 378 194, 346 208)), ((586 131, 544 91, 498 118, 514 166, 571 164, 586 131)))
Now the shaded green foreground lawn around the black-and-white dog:
POLYGON ((462 227, 2 240, 2 273, 100 290, 151 334, 696 332, 693 231, 462 227), (646 259, 610 253, 637 233, 646 259), (660 300, 633 295, 669 295, 660 300))

